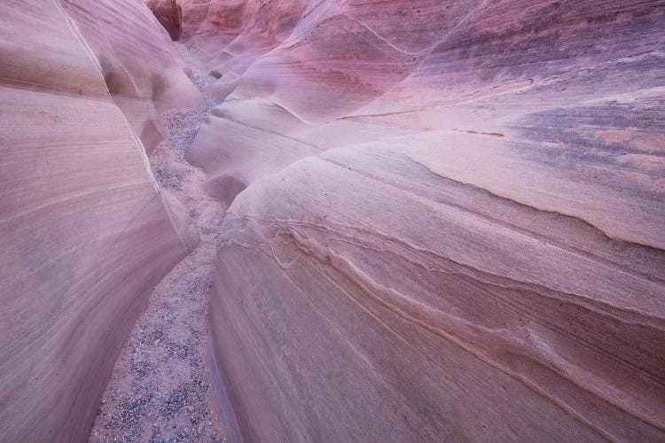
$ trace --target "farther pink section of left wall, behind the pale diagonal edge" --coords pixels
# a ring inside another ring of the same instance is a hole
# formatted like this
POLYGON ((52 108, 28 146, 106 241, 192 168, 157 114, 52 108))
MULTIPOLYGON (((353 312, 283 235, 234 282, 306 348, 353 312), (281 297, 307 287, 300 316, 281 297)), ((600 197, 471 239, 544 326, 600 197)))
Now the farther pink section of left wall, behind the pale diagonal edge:
POLYGON ((162 113, 205 105, 168 35, 140 0, 98 2, 94 7, 87 0, 60 2, 148 154, 166 135, 162 113))

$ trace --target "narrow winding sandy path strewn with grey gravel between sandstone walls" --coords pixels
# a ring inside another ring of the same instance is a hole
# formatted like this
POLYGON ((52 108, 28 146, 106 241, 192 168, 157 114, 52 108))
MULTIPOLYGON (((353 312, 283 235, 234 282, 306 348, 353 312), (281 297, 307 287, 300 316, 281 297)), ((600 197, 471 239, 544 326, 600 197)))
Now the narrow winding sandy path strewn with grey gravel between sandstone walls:
MULTIPOLYGON (((204 73, 183 45, 181 56, 202 87, 216 79, 204 73)), ((205 95, 204 95, 205 97, 205 95)), ((169 139, 151 156, 162 189, 190 210, 200 246, 157 285, 106 388, 90 442, 225 441, 206 368, 207 297, 215 269, 217 235, 223 207, 201 188, 203 172, 184 160, 207 108, 163 116, 169 139)))

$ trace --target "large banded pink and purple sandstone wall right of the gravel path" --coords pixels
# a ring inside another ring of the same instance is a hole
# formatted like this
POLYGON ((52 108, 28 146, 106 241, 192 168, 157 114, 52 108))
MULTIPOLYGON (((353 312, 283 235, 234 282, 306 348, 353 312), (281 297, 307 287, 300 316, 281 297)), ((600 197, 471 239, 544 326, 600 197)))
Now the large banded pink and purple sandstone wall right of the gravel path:
POLYGON ((665 439, 665 5, 177 3, 246 439, 665 439))

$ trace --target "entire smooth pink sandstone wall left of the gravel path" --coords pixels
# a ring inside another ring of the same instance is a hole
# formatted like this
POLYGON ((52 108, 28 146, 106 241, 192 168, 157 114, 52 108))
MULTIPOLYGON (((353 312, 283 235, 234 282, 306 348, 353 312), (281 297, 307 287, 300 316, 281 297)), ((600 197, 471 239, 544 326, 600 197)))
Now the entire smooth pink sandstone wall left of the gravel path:
POLYGON ((83 441, 146 296, 197 243, 141 139, 200 96, 138 0, 0 17, 0 439, 83 441))

